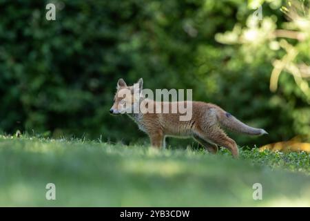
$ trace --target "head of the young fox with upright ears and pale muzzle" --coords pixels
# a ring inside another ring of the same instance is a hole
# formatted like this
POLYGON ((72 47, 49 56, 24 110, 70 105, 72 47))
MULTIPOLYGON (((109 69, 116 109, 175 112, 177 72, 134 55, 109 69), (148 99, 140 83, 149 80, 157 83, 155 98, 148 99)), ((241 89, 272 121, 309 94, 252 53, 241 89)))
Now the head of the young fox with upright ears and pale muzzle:
POLYGON ((143 79, 139 79, 133 86, 127 86, 121 78, 117 82, 114 104, 110 109, 113 115, 124 113, 134 113, 134 109, 139 107, 139 100, 143 89, 143 79))

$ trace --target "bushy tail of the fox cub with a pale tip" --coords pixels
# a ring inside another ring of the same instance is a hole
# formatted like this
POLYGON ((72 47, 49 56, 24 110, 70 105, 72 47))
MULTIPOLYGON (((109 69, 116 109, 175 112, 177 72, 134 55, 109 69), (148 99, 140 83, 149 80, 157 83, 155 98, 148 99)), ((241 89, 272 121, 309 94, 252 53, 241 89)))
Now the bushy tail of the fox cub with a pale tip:
POLYGON ((236 117, 234 117, 230 113, 227 113, 221 108, 218 108, 217 110, 217 118, 221 126, 224 126, 231 131, 245 133, 247 135, 268 134, 264 129, 247 126, 247 124, 240 122, 240 120, 238 120, 236 117))

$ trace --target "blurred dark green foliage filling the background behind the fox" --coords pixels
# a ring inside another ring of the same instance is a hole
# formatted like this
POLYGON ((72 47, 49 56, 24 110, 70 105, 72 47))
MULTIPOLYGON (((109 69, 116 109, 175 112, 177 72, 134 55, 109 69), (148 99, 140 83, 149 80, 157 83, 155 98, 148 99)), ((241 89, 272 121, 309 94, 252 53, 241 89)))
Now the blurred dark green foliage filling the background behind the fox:
MULTIPOLYGON (((277 2, 264 3, 263 15, 283 28, 287 19, 277 2)), ((109 109, 118 78, 132 84, 143 77, 145 88, 193 88, 194 99, 270 134, 233 135, 238 144, 309 140, 309 97, 289 74, 280 76, 276 92, 269 90, 272 61, 284 52, 264 42, 251 48, 216 41, 236 23, 245 26, 254 12, 249 3, 0 1, 0 130, 141 142, 147 137, 134 122, 109 109), (45 19, 50 2, 56 21, 45 19)), ((298 50, 309 65, 309 50, 298 50)))

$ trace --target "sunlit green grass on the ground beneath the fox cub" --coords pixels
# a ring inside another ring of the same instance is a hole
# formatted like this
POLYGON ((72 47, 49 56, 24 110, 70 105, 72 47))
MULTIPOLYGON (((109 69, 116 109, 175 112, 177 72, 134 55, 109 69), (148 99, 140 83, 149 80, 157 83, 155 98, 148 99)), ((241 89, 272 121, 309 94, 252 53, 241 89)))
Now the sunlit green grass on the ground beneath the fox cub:
POLYGON ((307 153, 0 136, 0 206, 310 206, 307 153), (56 185, 56 200, 45 185, 56 185), (254 183, 262 200, 253 200, 254 183))

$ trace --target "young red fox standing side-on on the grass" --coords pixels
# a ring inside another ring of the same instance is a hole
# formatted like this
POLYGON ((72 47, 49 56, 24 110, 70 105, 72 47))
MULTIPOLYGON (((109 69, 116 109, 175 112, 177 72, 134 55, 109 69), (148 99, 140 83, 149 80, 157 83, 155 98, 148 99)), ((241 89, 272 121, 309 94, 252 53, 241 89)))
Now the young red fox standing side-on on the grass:
MULTIPOLYGON (((141 92, 143 90, 143 79, 139 79, 135 85, 141 92)), ((113 115, 127 113, 138 124, 138 127, 149 135, 154 147, 165 147, 165 137, 167 136, 193 137, 210 153, 217 153, 218 146, 223 146, 229 149, 234 157, 238 157, 236 142, 225 134, 220 128, 221 126, 247 135, 268 134, 264 129, 247 126, 219 106, 205 102, 183 102, 192 106, 192 117, 185 121, 180 121, 180 115, 182 115, 180 111, 176 113, 128 112, 129 109, 137 105, 146 107, 153 105, 162 108, 167 106, 172 109, 174 104, 180 104, 180 102, 157 102, 145 98, 142 93, 138 93, 137 97, 134 88, 134 86, 127 86, 123 79, 118 80, 114 104, 110 113, 113 115), (125 91, 130 93, 124 93, 125 91)))

